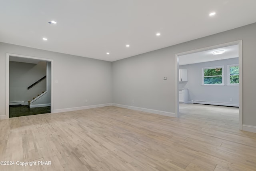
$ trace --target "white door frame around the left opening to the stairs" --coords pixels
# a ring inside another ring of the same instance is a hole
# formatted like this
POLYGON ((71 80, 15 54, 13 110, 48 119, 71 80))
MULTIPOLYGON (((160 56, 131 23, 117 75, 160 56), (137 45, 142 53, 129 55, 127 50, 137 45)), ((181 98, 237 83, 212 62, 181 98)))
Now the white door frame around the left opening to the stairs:
MULTIPOLYGON (((51 62, 51 112, 53 111, 53 60, 47 58, 38 58, 33 56, 25 56, 25 55, 18 55, 18 54, 9 54, 6 53, 6 115, 5 119, 9 118, 9 64, 10 64, 10 56, 18 57, 18 58, 29 58, 29 59, 36 59, 42 60, 46 62, 51 62)), ((3 118, 4 119, 4 118, 3 118)))

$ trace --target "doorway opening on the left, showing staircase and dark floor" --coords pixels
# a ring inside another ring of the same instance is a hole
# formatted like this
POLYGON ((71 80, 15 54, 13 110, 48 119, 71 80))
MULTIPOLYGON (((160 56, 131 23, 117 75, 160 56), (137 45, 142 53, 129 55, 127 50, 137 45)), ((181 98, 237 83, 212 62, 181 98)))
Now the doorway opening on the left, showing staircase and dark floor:
POLYGON ((53 60, 6 54, 6 119, 51 113, 53 60))

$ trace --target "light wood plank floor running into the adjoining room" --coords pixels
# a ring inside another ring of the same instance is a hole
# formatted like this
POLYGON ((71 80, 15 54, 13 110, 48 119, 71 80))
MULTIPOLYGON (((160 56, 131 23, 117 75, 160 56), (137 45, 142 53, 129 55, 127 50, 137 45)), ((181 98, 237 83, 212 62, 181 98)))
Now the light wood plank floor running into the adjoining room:
POLYGON ((4 171, 255 171, 256 134, 238 108, 180 105, 180 118, 100 107, 0 121, 4 171))

